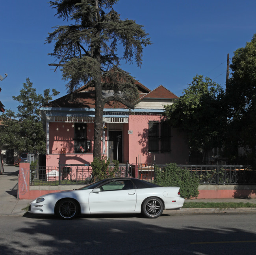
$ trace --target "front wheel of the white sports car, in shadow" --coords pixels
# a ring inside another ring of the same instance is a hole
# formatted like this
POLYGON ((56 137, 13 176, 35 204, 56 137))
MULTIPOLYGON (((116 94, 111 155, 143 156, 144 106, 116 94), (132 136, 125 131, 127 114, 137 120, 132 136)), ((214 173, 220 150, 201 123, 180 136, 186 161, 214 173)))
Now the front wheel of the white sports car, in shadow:
POLYGON ((78 211, 78 203, 71 198, 65 198, 56 205, 55 214, 63 220, 71 220, 76 217, 78 211))

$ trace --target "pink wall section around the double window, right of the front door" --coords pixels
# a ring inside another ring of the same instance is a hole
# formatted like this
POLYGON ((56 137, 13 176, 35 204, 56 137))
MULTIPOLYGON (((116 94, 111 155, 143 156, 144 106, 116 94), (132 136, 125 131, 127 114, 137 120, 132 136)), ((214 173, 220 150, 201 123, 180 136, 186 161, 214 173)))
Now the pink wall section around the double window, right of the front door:
POLYGON ((160 121, 161 116, 139 116, 129 117, 129 163, 151 164, 154 160, 158 164, 175 162, 186 164, 189 161, 189 149, 184 136, 177 130, 171 131, 171 152, 170 153, 149 153, 148 152, 148 122, 160 121), (138 159, 139 157, 139 159, 138 159), (139 160, 139 161, 138 161, 139 160))

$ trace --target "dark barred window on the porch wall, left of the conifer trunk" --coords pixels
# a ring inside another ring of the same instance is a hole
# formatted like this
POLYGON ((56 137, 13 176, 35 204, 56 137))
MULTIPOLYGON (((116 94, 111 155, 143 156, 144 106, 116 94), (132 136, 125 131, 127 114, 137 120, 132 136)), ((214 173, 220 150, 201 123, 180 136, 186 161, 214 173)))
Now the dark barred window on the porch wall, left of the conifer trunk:
POLYGON ((75 123, 74 127, 74 153, 86 151, 86 126, 80 127, 80 123, 75 123))

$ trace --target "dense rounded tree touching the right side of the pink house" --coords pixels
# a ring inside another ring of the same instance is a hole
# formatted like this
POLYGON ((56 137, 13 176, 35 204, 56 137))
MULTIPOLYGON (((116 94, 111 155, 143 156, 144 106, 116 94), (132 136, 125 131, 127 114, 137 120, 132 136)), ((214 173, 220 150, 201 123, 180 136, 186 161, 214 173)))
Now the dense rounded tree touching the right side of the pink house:
POLYGON ((226 127, 223 96, 219 84, 196 75, 178 100, 164 106, 164 115, 171 126, 187 135, 191 150, 222 146, 226 127))

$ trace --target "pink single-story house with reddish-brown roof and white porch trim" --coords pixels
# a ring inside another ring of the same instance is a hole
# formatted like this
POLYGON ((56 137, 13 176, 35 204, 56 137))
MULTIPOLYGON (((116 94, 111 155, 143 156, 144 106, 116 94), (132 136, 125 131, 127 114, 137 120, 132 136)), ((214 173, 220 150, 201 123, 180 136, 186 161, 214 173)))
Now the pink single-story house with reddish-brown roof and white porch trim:
MULTIPOLYGON (((186 164, 189 150, 184 136, 162 121, 163 105, 178 99, 162 85, 150 90, 135 81, 140 98, 134 110, 107 103, 102 127, 102 156, 120 163, 186 164)), ((104 90, 103 93, 111 92, 104 90)), ((82 86, 40 107, 46 123, 46 167, 90 164, 93 161, 94 88, 82 86)))

